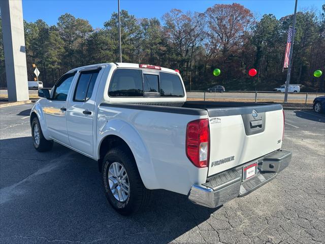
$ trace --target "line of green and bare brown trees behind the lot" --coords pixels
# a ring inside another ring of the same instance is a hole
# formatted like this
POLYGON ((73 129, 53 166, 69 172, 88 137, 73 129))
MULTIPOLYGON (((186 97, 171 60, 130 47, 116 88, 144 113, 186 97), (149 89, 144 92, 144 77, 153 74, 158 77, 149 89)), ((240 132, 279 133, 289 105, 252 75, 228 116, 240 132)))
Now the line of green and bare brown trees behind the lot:
MULTIPOLYGON (((1 21, 1 18, 0 18, 1 21)), ((204 13, 172 9, 157 18, 136 18, 121 11, 122 60, 178 69, 187 90, 224 85, 226 90, 272 90, 285 82, 282 72, 289 26, 293 15, 257 18, 240 4, 217 4, 204 13), (221 75, 214 77, 215 68, 221 75), (248 76, 255 68, 257 75, 248 76)), ((1 26, 1 22, 0 22, 1 26)), ((75 67, 119 62, 118 15, 103 28, 66 13, 56 25, 43 20, 24 21, 28 80, 34 80, 35 63, 40 80, 51 87, 75 67)), ((2 35, 2 30, 0 30, 2 35)), ((0 37, 0 87, 6 87, 4 52, 0 37)), ((291 83, 305 91, 325 90, 325 5, 321 13, 297 13, 291 83)))

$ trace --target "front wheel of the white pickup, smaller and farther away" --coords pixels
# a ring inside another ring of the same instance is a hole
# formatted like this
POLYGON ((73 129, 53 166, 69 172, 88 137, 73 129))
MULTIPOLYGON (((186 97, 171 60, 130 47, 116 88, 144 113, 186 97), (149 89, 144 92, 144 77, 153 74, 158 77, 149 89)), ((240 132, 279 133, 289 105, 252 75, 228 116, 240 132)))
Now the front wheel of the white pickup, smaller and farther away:
POLYGON ((31 137, 34 142, 34 147, 36 150, 49 151, 52 149, 53 141, 52 140, 49 141, 44 138, 40 121, 37 117, 33 118, 31 121, 31 137))

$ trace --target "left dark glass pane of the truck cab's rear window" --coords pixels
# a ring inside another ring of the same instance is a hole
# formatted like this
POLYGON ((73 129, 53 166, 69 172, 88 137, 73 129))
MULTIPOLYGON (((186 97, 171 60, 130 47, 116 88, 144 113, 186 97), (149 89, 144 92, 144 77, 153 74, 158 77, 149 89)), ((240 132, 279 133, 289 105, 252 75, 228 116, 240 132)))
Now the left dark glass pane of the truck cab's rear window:
POLYGON ((143 97, 142 71, 117 69, 108 89, 110 97, 143 97))

